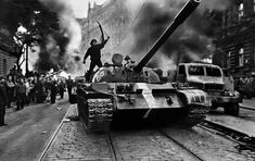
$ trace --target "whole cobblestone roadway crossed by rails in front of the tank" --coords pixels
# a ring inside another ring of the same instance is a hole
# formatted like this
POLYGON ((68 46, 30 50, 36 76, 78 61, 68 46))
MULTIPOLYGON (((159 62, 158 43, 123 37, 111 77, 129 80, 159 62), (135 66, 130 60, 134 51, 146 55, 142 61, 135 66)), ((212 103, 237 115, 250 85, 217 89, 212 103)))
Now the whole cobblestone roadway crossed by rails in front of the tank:
MULTIPOLYGON (((113 146, 111 147, 106 134, 87 134, 80 121, 72 120, 76 116, 77 108, 72 106, 43 161, 195 160, 189 152, 155 129, 111 131, 113 146)), ((252 161, 255 156, 254 152, 240 151, 238 145, 231 140, 200 127, 164 131, 205 161, 252 161)))

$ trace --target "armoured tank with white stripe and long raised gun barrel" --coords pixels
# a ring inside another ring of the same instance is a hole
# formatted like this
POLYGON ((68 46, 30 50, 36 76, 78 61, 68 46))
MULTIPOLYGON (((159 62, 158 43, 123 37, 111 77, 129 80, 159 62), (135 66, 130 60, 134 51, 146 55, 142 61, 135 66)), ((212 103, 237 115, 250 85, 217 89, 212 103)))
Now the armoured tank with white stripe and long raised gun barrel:
POLYGON ((170 123, 179 120, 192 127, 205 119, 211 101, 200 89, 163 83, 158 71, 146 67, 168 37, 196 9, 200 0, 189 0, 175 20, 138 63, 115 53, 113 64, 101 67, 90 83, 77 85, 78 113, 88 131, 105 131, 111 124, 130 122, 170 123))

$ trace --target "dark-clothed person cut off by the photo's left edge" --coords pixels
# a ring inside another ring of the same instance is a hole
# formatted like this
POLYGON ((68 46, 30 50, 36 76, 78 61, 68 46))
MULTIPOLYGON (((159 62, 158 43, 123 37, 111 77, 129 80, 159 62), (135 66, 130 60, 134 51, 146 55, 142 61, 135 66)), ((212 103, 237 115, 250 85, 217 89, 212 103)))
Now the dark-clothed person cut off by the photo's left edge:
POLYGON ((4 115, 5 115, 5 107, 8 104, 8 96, 5 89, 5 82, 4 78, 0 78, 0 126, 7 125, 4 123, 4 115))

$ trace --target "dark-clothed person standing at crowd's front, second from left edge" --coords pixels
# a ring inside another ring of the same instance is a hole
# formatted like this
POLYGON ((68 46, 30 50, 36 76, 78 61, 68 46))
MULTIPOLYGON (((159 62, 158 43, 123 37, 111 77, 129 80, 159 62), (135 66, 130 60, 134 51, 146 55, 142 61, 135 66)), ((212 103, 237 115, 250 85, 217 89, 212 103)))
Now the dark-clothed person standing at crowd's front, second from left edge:
POLYGON ((21 110, 24 108, 26 103, 26 85, 23 78, 20 78, 16 85, 16 110, 21 110))

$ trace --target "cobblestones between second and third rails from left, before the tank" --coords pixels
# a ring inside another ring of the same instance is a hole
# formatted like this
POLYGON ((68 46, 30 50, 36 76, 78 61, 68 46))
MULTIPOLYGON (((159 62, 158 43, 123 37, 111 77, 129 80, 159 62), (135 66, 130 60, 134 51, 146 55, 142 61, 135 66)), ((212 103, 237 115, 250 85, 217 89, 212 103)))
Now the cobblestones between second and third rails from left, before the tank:
POLYGON ((194 160, 186 150, 156 131, 113 132, 112 140, 119 160, 194 160))

